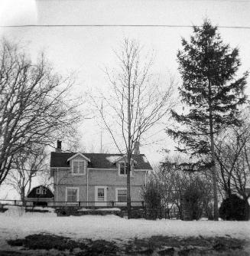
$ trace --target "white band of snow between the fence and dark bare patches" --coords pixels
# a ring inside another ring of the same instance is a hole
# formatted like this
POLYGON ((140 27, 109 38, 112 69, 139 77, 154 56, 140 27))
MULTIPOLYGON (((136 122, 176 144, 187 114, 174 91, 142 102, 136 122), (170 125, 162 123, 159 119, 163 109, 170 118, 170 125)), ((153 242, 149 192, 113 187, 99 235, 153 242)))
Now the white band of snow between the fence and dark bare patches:
POLYGON ((152 235, 167 236, 230 236, 250 240, 250 222, 211 222, 119 218, 115 215, 84 215, 57 217, 54 212, 24 212, 21 207, 9 206, 0 213, 0 247, 6 239, 24 238, 40 232, 63 235, 70 238, 130 239, 152 235))

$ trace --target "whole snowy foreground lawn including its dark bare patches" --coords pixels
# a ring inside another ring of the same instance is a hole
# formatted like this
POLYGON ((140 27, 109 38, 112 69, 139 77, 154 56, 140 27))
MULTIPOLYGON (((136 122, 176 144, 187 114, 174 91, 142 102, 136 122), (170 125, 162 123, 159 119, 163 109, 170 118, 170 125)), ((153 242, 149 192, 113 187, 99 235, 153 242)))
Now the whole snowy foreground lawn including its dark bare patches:
POLYGON ((249 241, 250 222, 0 214, 0 255, 249 255, 249 241))

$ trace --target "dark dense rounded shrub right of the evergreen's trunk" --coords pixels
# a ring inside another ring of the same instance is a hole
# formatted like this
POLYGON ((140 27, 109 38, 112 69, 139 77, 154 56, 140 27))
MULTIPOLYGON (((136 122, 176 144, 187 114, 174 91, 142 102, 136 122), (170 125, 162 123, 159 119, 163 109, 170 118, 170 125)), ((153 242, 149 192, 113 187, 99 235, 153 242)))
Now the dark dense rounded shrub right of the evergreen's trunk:
POLYGON ((230 195, 222 201, 219 217, 227 221, 242 221, 245 219, 245 201, 238 195, 230 195))

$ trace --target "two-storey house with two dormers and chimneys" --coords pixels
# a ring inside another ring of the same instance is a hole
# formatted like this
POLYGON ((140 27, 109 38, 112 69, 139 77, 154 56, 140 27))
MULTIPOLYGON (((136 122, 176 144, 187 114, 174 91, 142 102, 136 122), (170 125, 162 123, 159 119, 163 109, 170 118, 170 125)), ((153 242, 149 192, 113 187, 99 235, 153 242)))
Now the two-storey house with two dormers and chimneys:
MULTIPOLYGON (((51 153, 56 205, 126 205, 128 160, 122 154, 62 153, 60 141, 51 153)), ((131 159, 131 205, 141 205, 141 188, 151 165, 135 150, 131 159)))

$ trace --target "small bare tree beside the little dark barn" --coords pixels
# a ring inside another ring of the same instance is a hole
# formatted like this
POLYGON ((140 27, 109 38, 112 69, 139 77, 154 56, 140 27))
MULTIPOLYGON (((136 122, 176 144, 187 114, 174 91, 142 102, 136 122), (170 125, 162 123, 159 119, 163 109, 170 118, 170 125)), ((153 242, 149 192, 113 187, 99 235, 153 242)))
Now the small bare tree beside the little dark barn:
POLYGON ((31 191, 31 184, 36 176, 44 175, 47 170, 47 153, 44 147, 37 148, 31 153, 17 153, 12 162, 12 169, 8 172, 5 183, 11 185, 20 195, 23 205, 25 195, 31 191))

